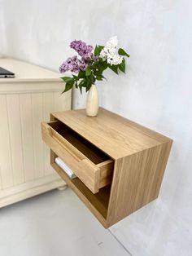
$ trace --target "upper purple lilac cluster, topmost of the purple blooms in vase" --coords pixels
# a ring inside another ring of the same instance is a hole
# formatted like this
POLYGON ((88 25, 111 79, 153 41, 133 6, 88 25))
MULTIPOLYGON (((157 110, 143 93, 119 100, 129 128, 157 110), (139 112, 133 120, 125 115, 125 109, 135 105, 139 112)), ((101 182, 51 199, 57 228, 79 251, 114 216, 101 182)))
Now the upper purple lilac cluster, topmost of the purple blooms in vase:
POLYGON ((72 41, 70 44, 70 47, 74 49, 85 62, 89 62, 89 60, 92 59, 92 52, 93 51, 93 46, 87 45, 85 42, 82 42, 81 40, 79 41, 72 41))

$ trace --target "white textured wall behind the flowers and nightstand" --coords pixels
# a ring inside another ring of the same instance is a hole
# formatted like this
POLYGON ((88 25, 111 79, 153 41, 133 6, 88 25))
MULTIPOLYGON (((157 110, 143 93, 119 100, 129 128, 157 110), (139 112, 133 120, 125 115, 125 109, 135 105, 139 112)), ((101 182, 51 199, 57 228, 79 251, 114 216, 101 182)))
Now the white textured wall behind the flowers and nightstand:
MULTIPOLYGON (((159 199, 111 227, 130 254, 192 253, 192 21, 190 0, 0 0, 0 52, 57 70, 82 39, 117 35, 127 73, 107 72, 100 104, 174 139, 159 199), (6 29, 6 34, 5 34, 6 29)), ((85 97, 74 93, 74 108, 85 97)), ((129 202, 128 202, 129 203, 129 202)))

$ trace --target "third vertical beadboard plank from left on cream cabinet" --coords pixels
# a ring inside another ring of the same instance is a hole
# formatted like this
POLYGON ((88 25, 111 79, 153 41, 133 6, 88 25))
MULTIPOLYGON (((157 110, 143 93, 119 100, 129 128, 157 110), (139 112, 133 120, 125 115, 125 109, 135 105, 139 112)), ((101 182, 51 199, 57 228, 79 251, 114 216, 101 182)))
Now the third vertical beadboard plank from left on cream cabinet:
POLYGON ((33 117, 30 94, 20 95, 22 142, 24 149, 25 181, 34 179, 33 117))

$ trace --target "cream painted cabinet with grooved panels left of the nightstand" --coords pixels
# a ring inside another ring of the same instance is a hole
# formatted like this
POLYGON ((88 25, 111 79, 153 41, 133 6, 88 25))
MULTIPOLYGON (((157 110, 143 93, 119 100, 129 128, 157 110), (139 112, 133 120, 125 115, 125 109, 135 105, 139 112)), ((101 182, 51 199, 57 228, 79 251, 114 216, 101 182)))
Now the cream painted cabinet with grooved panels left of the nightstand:
POLYGON ((59 73, 12 59, 0 67, 15 78, 0 78, 0 207, 62 186, 41 141, 41 121, 71 108, 71 92, 61 95, 59 73))

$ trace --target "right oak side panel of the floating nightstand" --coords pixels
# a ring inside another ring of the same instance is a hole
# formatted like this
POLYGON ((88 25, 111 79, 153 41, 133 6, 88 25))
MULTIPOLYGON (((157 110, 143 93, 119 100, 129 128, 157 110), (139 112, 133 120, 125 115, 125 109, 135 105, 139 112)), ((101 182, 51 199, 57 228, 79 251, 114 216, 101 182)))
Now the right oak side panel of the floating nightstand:
POLYGON ((111 226, 159 195, 172 141, 116 161, 107 224, 111 226))

